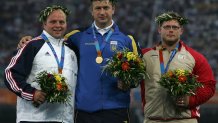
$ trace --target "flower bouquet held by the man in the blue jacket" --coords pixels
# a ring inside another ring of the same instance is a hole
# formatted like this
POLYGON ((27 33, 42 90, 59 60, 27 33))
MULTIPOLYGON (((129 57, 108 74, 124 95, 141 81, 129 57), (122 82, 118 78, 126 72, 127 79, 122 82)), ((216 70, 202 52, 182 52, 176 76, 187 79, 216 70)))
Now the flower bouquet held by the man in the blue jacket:
POLYGON ((124 91, 137 87, 140 81, 145 78, 143 61, 128 49, 118 51, 112 58, 108 59, 103 71, 117 77, 122 82, 122 90, 124 91))

